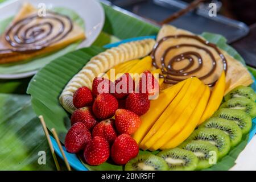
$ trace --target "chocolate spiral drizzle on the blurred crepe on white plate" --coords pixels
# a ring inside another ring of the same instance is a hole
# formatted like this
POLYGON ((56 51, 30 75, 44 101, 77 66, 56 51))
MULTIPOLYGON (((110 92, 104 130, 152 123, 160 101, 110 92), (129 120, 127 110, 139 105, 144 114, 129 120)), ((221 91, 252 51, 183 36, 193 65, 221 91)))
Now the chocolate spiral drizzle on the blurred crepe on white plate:
POLYGON ((9 27, 5 34, 5 40, 13 48, 1 49, 0 53, 39 51, 59 42, 72 29, 73 23, 68 16, 49 11, 46 16, 31 15, 9 27), (34 24, 31 24, 33 21, 34 24), (35 21, 39 23, 35 23, 35 21), (59 24, 59 30, 53 32, 56 24, 59 24))

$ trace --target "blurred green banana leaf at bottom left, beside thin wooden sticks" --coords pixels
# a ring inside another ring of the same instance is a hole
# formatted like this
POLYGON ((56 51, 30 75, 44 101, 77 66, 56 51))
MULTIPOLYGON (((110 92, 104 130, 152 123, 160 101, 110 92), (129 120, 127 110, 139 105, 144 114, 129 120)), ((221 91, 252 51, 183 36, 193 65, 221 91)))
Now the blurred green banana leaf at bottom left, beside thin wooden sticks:
POLYGON ((0 94, 0 107, 0 170, 56 170, 30 97, 0 94), (46 164, 38 163, 39 151, 46 164))

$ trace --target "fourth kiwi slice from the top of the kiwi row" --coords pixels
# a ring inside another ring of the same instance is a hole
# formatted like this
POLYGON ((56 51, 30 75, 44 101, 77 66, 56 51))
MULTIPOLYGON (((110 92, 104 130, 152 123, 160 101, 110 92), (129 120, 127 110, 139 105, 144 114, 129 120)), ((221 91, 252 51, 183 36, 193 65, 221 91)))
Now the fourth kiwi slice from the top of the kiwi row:
POLYGON ((222 118, 209 118, 205 121, 199 128, 214 128, 224 131, 229 135, 230 145, 232 147, 236 146, 242 139, 242 130, 233 121, 222 118))

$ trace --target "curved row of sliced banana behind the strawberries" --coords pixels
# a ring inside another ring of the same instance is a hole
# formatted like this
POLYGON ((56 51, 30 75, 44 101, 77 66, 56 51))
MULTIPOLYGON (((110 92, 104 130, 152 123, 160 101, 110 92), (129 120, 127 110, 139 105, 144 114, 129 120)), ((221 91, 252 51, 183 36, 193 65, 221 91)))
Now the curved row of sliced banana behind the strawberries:
POLYGON ((77 89, 81 86, 87 86, 92 89, 92 82, 95 77, 98 77, 100 74, 102 75, 102 73, 105 73, 119 63, 147 56, 152 51, 154 45, 154 39, 138 40, 110 48, 92 57, 65 86, 59 98, 60 104, 69 113, 73 113, 76 109, 73 105, 73 94, 77 89))

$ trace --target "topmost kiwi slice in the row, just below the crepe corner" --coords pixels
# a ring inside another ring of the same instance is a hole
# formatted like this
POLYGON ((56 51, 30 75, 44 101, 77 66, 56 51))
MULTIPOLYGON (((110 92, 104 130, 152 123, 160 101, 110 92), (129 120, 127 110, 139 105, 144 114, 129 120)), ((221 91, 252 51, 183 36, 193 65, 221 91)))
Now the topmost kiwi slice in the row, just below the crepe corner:
POLYGON ((228 101, 228 100, 230 100, 232 98, 236 98, 236 97, 249 98, 253 102, 255 102, 255 100, 256 100, 256 94, 255 94, 253 88, 247 87, 247 86, 237 86, 237 88, 234 88, 228 94, 226 94, 226 96, 224 98, 225 98, 225 101, 228 101))

